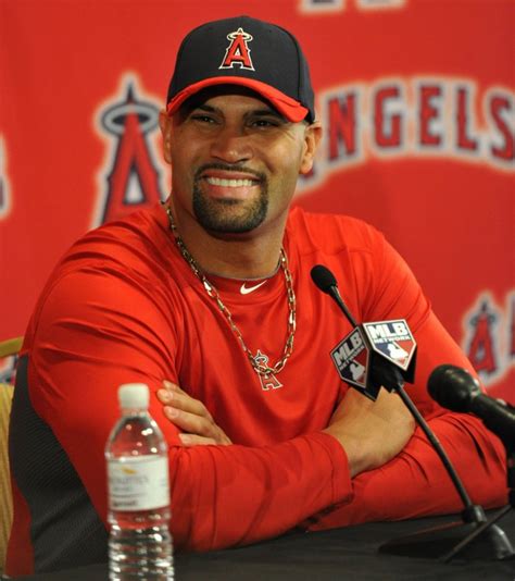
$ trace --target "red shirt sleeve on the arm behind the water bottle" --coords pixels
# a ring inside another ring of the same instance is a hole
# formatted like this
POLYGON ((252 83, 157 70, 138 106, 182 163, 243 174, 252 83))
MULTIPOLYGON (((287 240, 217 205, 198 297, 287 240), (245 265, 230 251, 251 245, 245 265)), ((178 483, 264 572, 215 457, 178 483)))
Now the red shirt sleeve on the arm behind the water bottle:
POLYGON ((155 289, 105 265, 60 276, 38 307, 27 345, 30 399, 101 519, 105 522, 108 499, 103 454, 118 418, 117 386, 135 381, 149 384, 150 412, 169 444, 177 547, 255 542, 348 498, 347 457, 327 434, 265 447, 181 447, 155 397, 162 381, 175 378, 168 311, 155 289))

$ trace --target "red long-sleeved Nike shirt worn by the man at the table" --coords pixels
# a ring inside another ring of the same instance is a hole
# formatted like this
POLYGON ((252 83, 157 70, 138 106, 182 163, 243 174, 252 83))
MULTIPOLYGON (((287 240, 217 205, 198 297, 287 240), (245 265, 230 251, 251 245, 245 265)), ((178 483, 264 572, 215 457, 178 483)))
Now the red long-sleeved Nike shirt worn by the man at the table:
MULTIPOLYGON (((476 418, 442 410, 426 392, 438 364, 470 364, 382 235, 354 219, 294 209, 284 246, 297 332, 275 385, 250 366, 180 256, 161 207, 106 224, 71 248, 41 294, 22 351, 10 435, 9 573, 105 558, 103 448, 118 417, 117 386, 126 382, 146 382, 152 392, 164 379, 177 382, 234 442, 184 448, 151 397, 150 412, 169 444, 172 532, 179 548, 251 543, 301 523, 319 529, 461 509, 418 430, 393 460, 352 481, 342 447, 321 433, 348 388, 329 353, 350 325, 313 285, 310 271, 317 263, 335 273, 359 321, 407 320, 418 344, 410 396, 473 499, 483 506, 505 502, 499 440, 476 418)), ((287 337, 280 269, 248 294, 241 293, 243 281, 210 281, 251 351, 273 364, 287 337)))

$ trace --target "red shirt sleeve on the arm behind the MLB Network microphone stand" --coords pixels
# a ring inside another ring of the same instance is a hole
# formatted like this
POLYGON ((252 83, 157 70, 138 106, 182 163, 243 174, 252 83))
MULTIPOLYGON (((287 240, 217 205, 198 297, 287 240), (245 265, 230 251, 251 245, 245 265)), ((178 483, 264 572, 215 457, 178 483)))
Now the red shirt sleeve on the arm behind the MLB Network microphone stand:
MULTIPOLYGON (((476 417, 440 407, 427 392, 431 371, 450 363, 474 369, 432 312, 415 276, 397 251, 379 236, 372 286, 363 290, 363 320, 406 319, 417 342, 414 384, 405 391, 444 447, 473 503, 485 508, 507 502, 506 454, 501 441, 476 417)), ((312 530, 365 521, 398 520, 459 512, 464 507, 440 458, 420 428, 404 449, 385 466, 353 479, 354 497, 321 516, 312 530)))

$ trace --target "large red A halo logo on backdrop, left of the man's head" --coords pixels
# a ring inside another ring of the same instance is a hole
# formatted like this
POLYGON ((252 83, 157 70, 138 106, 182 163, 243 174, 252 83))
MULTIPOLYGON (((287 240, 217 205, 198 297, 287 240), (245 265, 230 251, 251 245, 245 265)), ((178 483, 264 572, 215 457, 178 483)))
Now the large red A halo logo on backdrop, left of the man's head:
POLYGON ((160 182, 166 170, 160 168, 155 144, 160 102, 142 92, 136 75, 124 75, 117 96, 99 108, 97 133, 108 147, 93 226, 164 199, 160 182))

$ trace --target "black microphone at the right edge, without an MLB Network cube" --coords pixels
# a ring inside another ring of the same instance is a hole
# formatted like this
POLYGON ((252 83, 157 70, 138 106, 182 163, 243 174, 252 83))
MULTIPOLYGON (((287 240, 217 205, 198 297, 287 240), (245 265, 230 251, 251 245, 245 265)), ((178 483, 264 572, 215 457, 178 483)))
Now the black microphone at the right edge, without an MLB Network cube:
POLYGON ((483 394, 479 382, 468 371, 450 364, 439 366, 429 375, 427 387, 440 406, 476 415, 507 449, 515 449, 515 409, 483 394))

